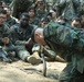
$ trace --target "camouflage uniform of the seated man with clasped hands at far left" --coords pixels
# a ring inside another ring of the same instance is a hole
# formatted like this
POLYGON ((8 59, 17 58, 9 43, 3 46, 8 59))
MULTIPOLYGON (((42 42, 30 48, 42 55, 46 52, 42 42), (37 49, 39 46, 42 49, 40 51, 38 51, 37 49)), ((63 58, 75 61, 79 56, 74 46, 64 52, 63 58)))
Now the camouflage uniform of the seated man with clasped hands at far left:
POLYGON ((6 57, 9 57, 8 55, 10 55, 10 52, 14 52, 14 45, 11 42, 9 42, 9 44, 4 44, 2 42, 2 38, 4 37, 9 38, 9 35, 10 35, 9 27, 6 24, 0 26, 0 46, 2 48, 2 49, 0 48, 0 56, 1 56, 1 52, 2 55, 4 55, 3 61, 9 61, 6 57))

